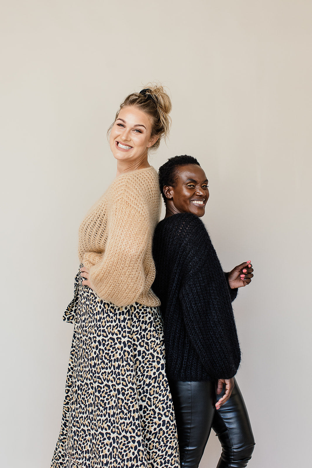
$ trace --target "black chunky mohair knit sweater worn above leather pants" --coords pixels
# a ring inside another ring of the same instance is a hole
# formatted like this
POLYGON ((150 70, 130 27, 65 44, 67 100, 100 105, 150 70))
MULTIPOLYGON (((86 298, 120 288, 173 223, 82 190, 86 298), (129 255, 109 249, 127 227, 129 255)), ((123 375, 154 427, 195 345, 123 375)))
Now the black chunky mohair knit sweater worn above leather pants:
POLYGON ((227 274, 201 219, 181 213, 163 219, 153 240, 164 320, 166 372, 173 380, 229 379, 240 350, 227 274))

